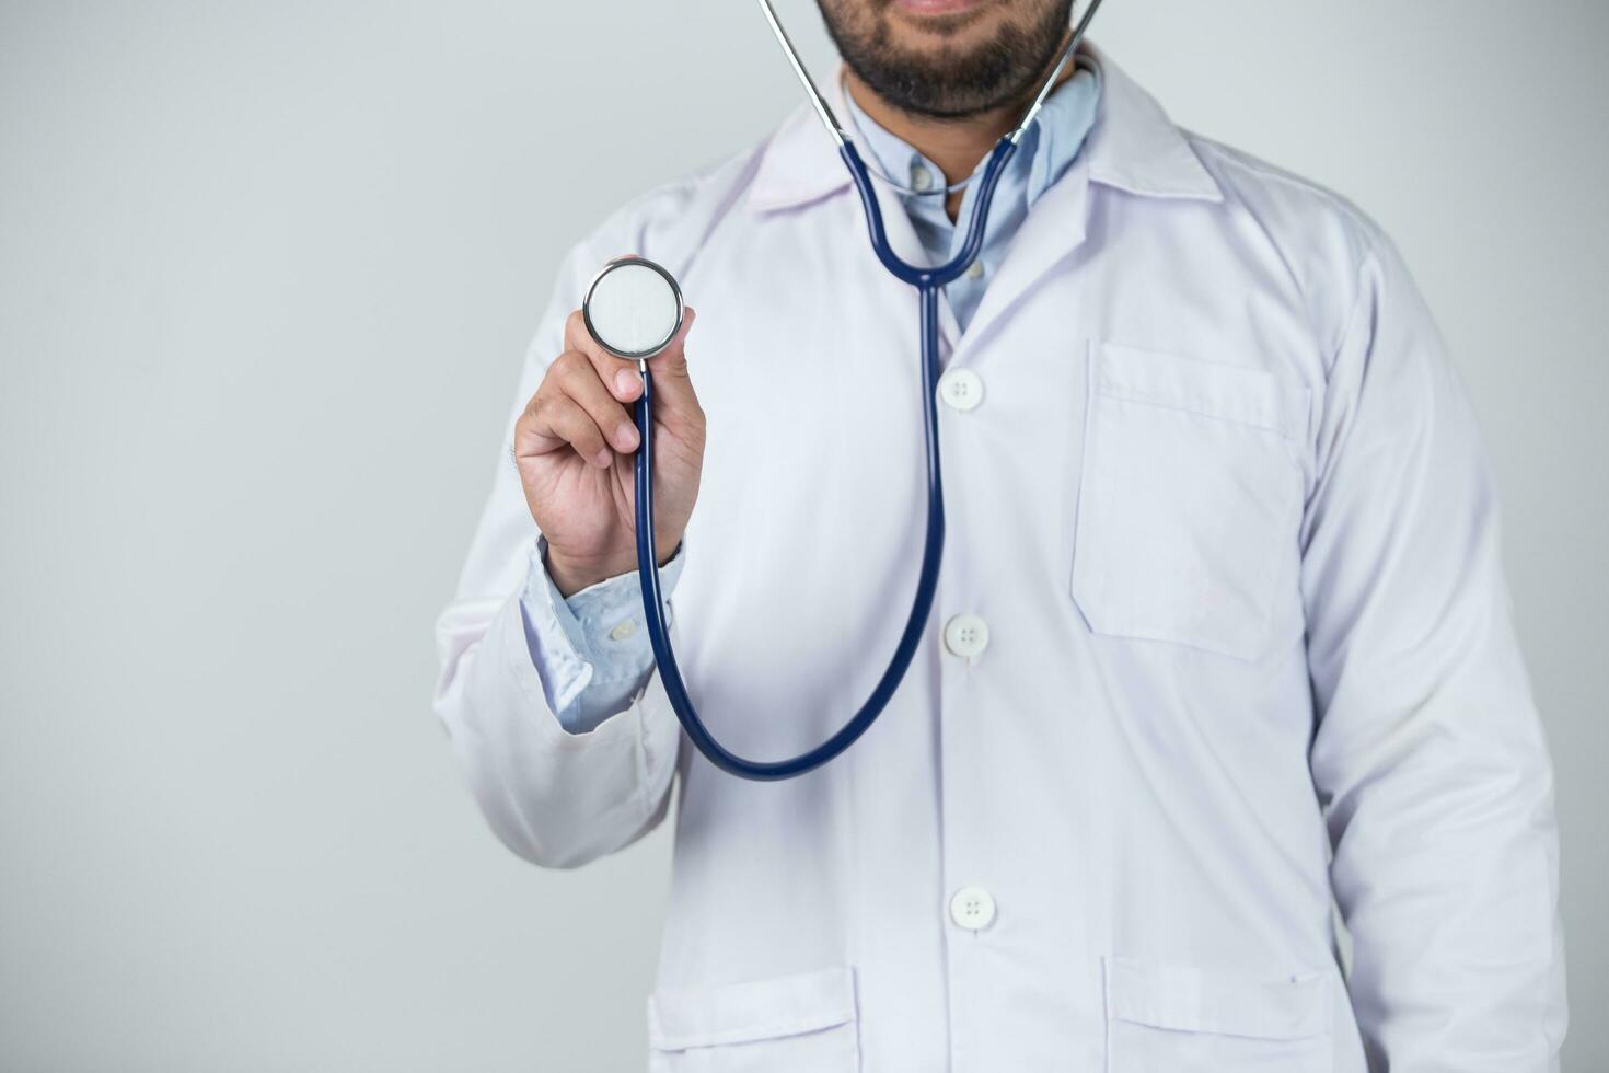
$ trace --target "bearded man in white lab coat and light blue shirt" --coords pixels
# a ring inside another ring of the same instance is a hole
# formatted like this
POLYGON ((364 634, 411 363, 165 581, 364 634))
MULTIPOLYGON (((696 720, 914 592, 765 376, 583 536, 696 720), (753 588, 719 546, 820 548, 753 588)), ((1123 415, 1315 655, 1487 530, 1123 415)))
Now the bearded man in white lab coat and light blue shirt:
MULTIPOLYGON (((896 249, 936 264, 973 196, 943 188, 1070 0, 821 6, 862 154, 936 191, 882 190, 896 249)), ((808 108, 571 251, 436 706, 536 864, 629 845, 676 787, 650 1068, 1558 1068, 1553 774, 1492 475, 1368 216, 1083 48, 943 296, 927 643, 854 748, 782 783, 687 746, 653 671, 640 386, 574 312, 623 253, 700 309, 652 360, 658 553, 724 743, 792 756, 864 701, 925 491, 914 291, 808 108)))

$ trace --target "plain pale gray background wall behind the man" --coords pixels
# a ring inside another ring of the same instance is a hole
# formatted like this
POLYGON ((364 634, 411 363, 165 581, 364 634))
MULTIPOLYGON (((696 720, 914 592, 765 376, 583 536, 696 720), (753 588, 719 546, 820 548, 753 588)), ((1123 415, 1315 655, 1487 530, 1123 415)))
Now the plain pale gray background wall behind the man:
MULTIPOLYGON (((1376 216, 1453 343, 1558 761, 1566 1065, 1606 1070, 1609 5, 1093 37, 1376 216)), ((431 619, 563 248, 796 100, 748 0, 0 3, 0 1067, 639 1063, 668 828, 507 854, 431 619)))

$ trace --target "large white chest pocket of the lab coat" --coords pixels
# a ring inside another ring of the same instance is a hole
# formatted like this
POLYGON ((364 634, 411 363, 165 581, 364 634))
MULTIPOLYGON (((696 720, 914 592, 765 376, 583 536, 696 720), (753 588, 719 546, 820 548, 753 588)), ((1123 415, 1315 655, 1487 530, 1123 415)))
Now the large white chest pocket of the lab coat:
POLYGON ((1097 634, 1242 660, 1294 584, 1308 389, 1091 343, 1073 600, 1097 634))

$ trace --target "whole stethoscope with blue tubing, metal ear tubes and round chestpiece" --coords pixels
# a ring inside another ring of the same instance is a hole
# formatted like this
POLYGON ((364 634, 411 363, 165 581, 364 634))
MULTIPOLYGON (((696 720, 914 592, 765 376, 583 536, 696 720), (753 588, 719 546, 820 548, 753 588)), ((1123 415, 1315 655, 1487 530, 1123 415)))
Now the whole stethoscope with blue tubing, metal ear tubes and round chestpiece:
MULTIPOLYGON (((850 179, 854 182, 854 188, 861 195, 861 206, 866 211, 872 251, 888 272, 916 288, 922 323, 922 431, 927 449, 927 539, 922 544, 922 569, 917 578, 916 598, 911 602, 911 615, 906 619, 904 631, 899 634, 899 643, 888 661, 888 669, 877 680, 872 695, 837 734, 808 753, 780 761, 753 761, 724 748, 714 740, 708 727, 705 727, 698 717, 698 711, 693 708, 692 698, 687 697, 687 685, 682 682, 682 672, 676 664, 676 652, 671 648, 669 627, 665 621, 665 598, 660 592, 660 565, 655 557, 653 541, 653 378, 648 375, 648 359, 663 351, 682 327, 684 306, 681 288, 669 272, 645 257, 618 257, 603 265, 603 270, 587 286, 586 298, 581 302, 581 314, 587 331, 599 346, 616 357, 637 362, 637 372, 642 376, 642 396, 636 404, 637 433, 642 438, 636 458, 637 576, 642 581, 642 610, 647 619, 648 640, 653 645, 653 658, 660 666, 660 682, 665 685, 665 695, 671 701, 671 709, 676 713, 687 737, 711 764, 743 779, 776 780, 803 775, 854 745, 877 721, 877 716, 883 713, 883 708, 888 706, 922 642, 922 632, 927 629, 927 619, 933 610, 933 595, 938 590, 938 566, 944 555, 944 494, 940 479, 936 402, 938 291, 946 283, 961 277, 983 248, 983 227, 985 220, 988 220, 990 204, 994 201, 994 187, 999 183, 999 177, 1006 171, 1012 153, 1017 151, 1022 135, 1039 114, 1044 98, 1051 95, 1057 79, 1072 60, 1078 42, 1083 40, 1089 21, 1101 6, 1101 0, 1091 0, 1084 16, 1068 35, 1056 68, 1039 88, 1039 95, 1033 98, 1033 105, 1023 114, 1022 122, 999 140, 983 162, 978 191, 972 201, 972 216, 967 220, 967 238, 961 246, 961 253, 938 267, 907 264, 895 254, 888 245, 888 235, 883 232, 883 217, 877 204, 877 191, 872 187, 870 169, 861 159, 851 135, 838 125, 832 108, 827 106, 827 101, 816 88, 816 82, 804 69, 803 61, 800 61, 793 42, 788 40, 782 23, 777 21, 777 13, 772 10, 771 0, 758 0, 758 3, 766 21, 771 24, 771 32, 787 55, 793 74, 804 85, 816 114, 821 117, 822 125, 827 127, 829 137, 837 143, 838 156, 843 158, 845 167, 850 169, 850 179)), ((972 179, 967 179, 964 183, 954 187, 917 191, 901 187, 882 172, 877 172, 877 179, 896 187, 903 193, 912 195, 953 193, 972 182, 972 179)))

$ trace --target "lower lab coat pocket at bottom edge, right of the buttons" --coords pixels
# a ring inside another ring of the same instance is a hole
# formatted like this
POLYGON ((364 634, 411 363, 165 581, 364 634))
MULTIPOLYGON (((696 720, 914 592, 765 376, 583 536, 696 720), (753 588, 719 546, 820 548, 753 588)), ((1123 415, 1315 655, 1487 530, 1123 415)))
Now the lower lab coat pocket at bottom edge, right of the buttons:
POLYGON ((1107 1073, 1332 1073, 1332 980, 1107 957, 1107 1073))

